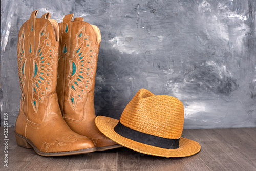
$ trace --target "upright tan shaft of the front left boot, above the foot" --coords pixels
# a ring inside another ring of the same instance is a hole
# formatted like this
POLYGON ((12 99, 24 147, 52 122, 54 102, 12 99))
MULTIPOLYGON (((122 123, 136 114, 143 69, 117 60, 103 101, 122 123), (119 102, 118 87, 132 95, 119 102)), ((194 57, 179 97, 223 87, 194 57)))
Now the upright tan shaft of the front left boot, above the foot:
POLYGON ((46 117, 48 97, 56 92, 59 28, 49 15, 36 18, 37 12, 33 11, 20 28, 17 60, 22 91, 20 113, 40 124, 46 117))

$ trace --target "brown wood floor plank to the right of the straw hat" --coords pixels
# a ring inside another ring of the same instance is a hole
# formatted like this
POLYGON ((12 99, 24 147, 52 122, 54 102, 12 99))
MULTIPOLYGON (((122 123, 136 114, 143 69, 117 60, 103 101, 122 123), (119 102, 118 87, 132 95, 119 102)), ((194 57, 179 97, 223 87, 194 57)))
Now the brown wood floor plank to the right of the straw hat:
POLYGON ((256 170, 256 143, 242 129, 184 130, 185 138, 200 143, 198 155, 212 170, 256 170), (249 139, 249 140, 248 140, 249 139))

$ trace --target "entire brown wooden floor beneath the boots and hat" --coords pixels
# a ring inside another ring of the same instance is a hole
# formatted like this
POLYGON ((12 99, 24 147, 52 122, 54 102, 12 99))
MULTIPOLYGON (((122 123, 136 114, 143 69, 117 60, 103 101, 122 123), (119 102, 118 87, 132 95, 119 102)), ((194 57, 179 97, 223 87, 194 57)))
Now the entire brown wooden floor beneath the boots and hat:
POLYGON ((128 148, 85 155, 42 157, 33 149, 17 146, 9 127, 8 168, 4 167, 4 129, 0 145, 0 170, 256 170, 256 128, 183 130, 183 137, 200 143, 190 157, 164 158, 128 148))

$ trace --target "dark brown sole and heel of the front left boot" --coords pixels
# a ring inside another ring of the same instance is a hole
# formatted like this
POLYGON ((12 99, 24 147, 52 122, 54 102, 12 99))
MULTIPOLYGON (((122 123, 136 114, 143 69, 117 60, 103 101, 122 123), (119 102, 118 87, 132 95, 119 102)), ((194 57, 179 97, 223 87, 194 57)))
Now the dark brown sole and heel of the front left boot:
POLYGON ((86 148, 86 149, 80 149, 80 150, 74 150, 74 151, 68 151, 68 152, 41 152, 38 148, 35 147, 35 145, 24 136, 14 132, 16 142, 18 146, 24 147, 24 148, 33 148, 34 151, 40 155, 40 156, 68 156, 68 155, 79 155, 84 153, 91 153, 96 151, 96 148, 86 148))

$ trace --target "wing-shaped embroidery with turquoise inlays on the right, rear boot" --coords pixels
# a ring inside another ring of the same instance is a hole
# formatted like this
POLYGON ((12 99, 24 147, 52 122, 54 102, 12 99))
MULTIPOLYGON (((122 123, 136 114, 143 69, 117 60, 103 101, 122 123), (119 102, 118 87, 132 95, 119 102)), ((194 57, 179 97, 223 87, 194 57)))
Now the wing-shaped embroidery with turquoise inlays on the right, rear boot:
POLYGON ((73 51, 73 57, 69 59, 68 100, 73 109, 76 107, 77 100, 81 100, 87 90, 92 87, 90 76, 94 75, 92 66, 97 59, 95 48, 91 47, 92 41, 85 30, 86 26, 83 26, 76 34, 76 48, 73 51))

